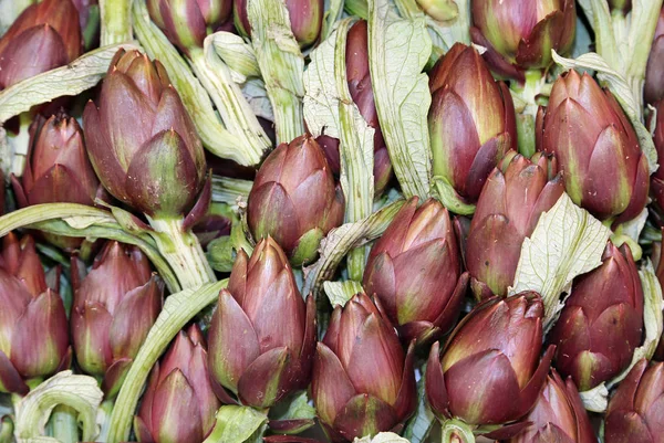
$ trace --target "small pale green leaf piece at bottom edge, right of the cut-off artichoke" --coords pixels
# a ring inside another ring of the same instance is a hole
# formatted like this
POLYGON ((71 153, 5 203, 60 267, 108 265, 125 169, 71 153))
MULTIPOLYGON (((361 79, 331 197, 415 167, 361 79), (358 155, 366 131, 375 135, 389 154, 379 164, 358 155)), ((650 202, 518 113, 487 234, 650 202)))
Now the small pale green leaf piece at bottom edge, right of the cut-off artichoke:
POLYGON ((268 415, 249 407, 228 404, 217 411, 217 423, 204 443, 243 443, 267 423, 268 415))

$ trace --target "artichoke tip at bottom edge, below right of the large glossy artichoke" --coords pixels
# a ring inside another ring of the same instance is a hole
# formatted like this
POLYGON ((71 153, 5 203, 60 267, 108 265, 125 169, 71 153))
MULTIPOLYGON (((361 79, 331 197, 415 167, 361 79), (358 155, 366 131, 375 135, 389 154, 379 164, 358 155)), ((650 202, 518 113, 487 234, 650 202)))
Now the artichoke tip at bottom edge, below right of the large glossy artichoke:
POLYGON ((552 370, 532 410, 523 418, 531 424, 507 443, 596 443, 594 430, 579 391, 552 370))

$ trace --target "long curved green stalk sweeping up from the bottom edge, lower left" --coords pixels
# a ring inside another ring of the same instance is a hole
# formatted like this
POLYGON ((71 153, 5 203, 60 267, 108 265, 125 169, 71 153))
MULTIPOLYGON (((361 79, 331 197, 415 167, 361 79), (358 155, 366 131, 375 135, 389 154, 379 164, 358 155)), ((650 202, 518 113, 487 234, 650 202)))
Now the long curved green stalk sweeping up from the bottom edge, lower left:
POLYGON ((188 288, 166 299, 164 309, 149 330, 120 389, 108 424, 107 443, 128 440, 132 418, 149 370, 177 333, 206 306, 214 303, 219 291, 227 284, 228 279, 224 279, 196 289, 188 288))

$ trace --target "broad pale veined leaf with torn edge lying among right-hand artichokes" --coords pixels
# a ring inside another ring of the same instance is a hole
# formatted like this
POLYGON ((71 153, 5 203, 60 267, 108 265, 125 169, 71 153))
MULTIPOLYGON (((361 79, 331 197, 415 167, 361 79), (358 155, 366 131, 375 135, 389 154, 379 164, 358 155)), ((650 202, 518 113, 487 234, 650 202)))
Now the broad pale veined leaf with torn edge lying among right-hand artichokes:
POLYGON ((563 193, 523 241, 510 295, 539 293, 548 330, 562 308, 560 295, 569 291, 572 279, 602 264, 609 235, 609 228, 563 193))

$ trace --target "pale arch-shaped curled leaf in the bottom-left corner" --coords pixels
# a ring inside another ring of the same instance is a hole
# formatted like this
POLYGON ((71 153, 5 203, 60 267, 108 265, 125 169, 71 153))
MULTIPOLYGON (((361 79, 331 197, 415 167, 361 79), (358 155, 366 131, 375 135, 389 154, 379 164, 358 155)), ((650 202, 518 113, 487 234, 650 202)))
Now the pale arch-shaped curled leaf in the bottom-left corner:
POLYGON ((71 370, 59 372, 15 405, 15 437, 23 443, 43 436, 53 408, 66 404, 77 412, 83 441, 93 441, 98 433, 96 413, 103 397, 94 378, 74 376, 71 370))

